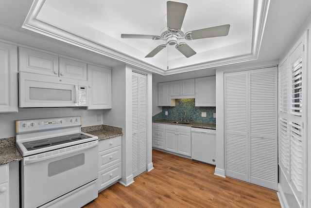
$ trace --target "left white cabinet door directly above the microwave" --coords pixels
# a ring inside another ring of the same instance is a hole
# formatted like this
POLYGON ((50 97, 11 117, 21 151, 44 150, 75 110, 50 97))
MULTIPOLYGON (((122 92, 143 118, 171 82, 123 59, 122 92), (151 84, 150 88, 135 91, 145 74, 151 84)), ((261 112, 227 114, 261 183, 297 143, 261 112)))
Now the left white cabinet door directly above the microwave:
POLYGON ((19 71, 58 76, 58 56, 19 47, 19 71))

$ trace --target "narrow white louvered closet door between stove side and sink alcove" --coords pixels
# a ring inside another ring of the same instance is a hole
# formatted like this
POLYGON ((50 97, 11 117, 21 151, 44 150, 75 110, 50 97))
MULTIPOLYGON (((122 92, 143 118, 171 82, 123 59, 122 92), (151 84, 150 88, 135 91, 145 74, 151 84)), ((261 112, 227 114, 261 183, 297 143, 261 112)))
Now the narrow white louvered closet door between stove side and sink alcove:
POLYGON ((147 76, 132 73, 132 170, 134 177, 147 170, 147 76))

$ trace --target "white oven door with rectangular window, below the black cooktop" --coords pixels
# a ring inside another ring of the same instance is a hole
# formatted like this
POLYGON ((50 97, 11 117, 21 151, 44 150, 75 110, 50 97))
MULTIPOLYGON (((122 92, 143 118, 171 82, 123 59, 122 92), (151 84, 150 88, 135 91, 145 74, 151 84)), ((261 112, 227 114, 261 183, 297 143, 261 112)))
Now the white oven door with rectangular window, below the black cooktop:
POLYGON ((98 140, 24 157, 23 208, 42 206, 96 180, 97 154, 98 140))

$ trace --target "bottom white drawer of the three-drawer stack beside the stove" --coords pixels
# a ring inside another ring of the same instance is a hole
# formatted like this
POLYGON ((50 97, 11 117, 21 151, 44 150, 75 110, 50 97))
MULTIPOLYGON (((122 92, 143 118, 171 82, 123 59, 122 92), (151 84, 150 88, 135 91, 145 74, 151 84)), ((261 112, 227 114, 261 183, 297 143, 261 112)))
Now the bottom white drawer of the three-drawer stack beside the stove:
POLYGON ((121 162, 98 172, 98 190, 105 189, 121 178, 121 162))

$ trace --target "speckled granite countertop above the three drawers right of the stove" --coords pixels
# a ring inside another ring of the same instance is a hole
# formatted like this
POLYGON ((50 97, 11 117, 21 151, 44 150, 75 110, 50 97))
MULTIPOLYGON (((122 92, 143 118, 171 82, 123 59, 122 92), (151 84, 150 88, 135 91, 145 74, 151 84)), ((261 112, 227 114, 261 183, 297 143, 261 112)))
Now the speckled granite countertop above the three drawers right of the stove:
POLYGON ((98 136, 98 140, 109 139, 115 136, 123 135, 122 128, 108 125, 82 127, 81 131, 98 136))

